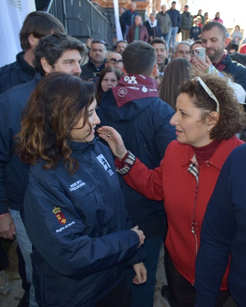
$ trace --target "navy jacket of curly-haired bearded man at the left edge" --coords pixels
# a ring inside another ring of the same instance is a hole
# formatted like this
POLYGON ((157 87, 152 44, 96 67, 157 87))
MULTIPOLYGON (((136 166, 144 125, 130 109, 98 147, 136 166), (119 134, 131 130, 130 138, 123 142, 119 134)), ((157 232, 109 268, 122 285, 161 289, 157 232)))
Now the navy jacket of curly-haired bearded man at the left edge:
POLYGON ((24 179, 27 166, 14 153, 14 136, 20 130, 21 113, 41 75, 25 84, 19 84, 0 95, 0 214, 8 206, 20 210, 24 196, 24 179))

